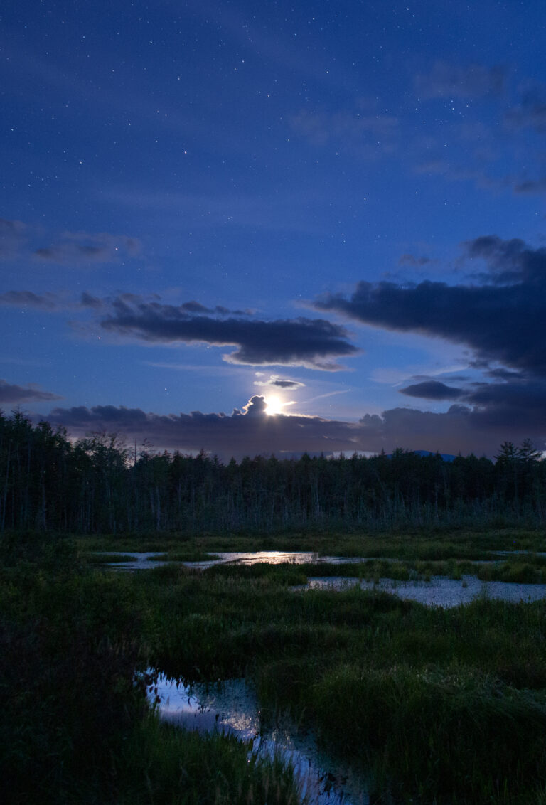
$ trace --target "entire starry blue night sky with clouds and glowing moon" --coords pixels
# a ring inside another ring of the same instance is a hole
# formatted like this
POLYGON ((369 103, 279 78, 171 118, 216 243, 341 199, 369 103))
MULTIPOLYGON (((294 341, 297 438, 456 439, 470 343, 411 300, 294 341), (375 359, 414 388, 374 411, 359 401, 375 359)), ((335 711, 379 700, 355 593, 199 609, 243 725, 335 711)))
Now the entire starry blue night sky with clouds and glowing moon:
POLYGON ((6 414, 223 460, 546 449, 544 0, 0 14, 6 414))

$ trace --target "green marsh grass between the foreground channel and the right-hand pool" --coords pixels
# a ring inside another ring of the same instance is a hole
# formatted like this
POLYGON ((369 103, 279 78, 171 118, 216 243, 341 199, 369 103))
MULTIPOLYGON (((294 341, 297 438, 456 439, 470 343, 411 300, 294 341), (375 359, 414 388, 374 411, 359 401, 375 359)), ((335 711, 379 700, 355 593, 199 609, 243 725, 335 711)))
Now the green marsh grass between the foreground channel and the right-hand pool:
POLYGON ((263 708, 307 721, 330 751, 371 768, 383 795, 530 801, 546 774, 546 605, 301 594, 279 586, 282 571, 141 578, 161 597, 158 667, 190 681, 246 675, 263 708))

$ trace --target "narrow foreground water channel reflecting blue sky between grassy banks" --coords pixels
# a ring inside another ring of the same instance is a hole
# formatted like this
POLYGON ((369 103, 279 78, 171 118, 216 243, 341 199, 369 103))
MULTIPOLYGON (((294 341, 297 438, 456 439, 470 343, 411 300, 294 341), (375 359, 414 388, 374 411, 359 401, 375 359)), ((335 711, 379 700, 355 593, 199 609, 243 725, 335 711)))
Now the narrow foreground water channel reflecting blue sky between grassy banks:
MULTIPOLYGON (((280 753, 292 764, 308 805, 369 805, 363 778, 319 752, 312 733, 287 718, 264 728, 258 700, 244 679, 188 687, 162 675, 156 688, 159 715, 181 728, 234 735, 248 742, 249 753, 257 756, 280 753)), ((153 689, 149 696, 153 701, 153 689)))

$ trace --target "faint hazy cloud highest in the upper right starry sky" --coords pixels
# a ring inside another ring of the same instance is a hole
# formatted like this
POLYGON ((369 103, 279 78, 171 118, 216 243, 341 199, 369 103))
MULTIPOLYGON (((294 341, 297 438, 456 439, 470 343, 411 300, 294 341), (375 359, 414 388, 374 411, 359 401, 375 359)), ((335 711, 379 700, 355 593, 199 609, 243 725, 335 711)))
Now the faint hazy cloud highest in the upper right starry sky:
POLYGON ((416 91, 422 98, 484 97, 503 93, 506 70, 502 66, 447 64, 436 61, 432 70, 416 76, 416 91))

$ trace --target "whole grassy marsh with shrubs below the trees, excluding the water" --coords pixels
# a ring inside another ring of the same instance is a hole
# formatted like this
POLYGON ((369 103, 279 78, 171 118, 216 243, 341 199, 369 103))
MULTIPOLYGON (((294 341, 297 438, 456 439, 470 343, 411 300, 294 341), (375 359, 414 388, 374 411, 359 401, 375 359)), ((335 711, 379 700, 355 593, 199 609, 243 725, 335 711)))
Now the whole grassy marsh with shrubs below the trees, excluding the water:
MULTIPOLYGON (((315 547, 368 556, 341 571, 323 564, 321 575, 543 579, 533 554, 477 564, 490 551, 539 551, 538 532, 458 537, 318 535, 315 547)), ((307 536, 223 539, 165 550, 312 549, 307 536)), ((160 723, 135 684, 151 664, 189 683, 245 676, 264 718, 290 713, 366 770, 377 805, 546 803, 546 603, 434 609, 377 590, 292 591, 316 565, 106 573, 82 559, 91 545, 106 549, 93 540, 0 541, 0 767, 11 801, 298 801, 278 761, 249 764, 238 741, 160 723)))

